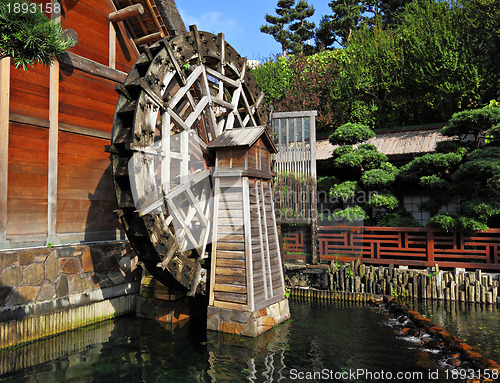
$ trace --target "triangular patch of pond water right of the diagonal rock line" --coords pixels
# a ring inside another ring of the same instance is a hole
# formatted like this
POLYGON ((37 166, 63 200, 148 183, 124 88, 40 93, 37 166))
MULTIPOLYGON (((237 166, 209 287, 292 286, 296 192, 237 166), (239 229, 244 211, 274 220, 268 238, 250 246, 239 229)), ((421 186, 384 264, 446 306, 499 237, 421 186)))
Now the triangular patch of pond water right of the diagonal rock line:
POLYGON ((500 311, 496 305, 431 300, 409 302, 408 305, 479 348, 485 358, 500 362, 500 311))

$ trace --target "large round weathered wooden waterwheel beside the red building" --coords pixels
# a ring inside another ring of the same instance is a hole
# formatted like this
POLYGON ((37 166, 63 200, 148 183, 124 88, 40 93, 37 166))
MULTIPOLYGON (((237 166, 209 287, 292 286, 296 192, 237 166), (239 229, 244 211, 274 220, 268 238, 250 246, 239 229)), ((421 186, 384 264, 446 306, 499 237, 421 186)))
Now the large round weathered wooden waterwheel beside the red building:
POLYGON ((144 48, 117 88, 111 154, 117 215, 146 268, 206 292, 214 155, 222 132, 267 122, 255 79, 224 35, 190 32, 144 48))

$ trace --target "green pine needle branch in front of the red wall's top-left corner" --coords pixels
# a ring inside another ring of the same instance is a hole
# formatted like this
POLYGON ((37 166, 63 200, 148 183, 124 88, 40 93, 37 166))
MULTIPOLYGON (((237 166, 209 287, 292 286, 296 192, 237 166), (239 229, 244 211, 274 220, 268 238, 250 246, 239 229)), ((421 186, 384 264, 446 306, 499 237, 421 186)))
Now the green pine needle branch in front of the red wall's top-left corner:
POLYGON ((0 57, 11 57, 16 68, 24 70, 35 64, 50 65, 73 44, 62 39, 60 23, 49 20, 33 4, 26 0, 0 2, 0 57), (17 7, 29 12, 15 12, 17 7))

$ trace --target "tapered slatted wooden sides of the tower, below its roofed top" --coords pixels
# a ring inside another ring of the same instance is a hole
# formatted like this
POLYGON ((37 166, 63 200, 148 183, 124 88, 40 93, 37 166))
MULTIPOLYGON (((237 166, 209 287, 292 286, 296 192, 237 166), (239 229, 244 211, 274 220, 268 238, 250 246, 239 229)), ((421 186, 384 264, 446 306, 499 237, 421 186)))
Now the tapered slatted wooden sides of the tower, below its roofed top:
POLYGON ((278 302, 285 289, 271 181, 221 177, 215 186, 210 304, 255 311, 278 302))

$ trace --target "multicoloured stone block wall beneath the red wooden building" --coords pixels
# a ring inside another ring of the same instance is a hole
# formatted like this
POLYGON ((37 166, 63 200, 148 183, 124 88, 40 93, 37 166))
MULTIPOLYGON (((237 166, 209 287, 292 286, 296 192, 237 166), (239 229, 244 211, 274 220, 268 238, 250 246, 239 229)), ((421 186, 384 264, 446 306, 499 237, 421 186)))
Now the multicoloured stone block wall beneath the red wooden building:
MULTIPOLYGON (((137 294, 140 276, 137 257, 126 241, 0 251, 0 323, 20 323, 137 294)), ((135 300, 133 306, 132 311, 135 300)), ((95 319, 85 317, 85 324, 124 312, 113 307, 106 310, 95 319)), ((58 326, 57 322, 52 325, 58 326)), ((60 330, 47 331, 53 335, 67 329, 60 330)), ((22 335, 28 332, 2 337, 0 348, 33 340, 32 335, 22 335)))

